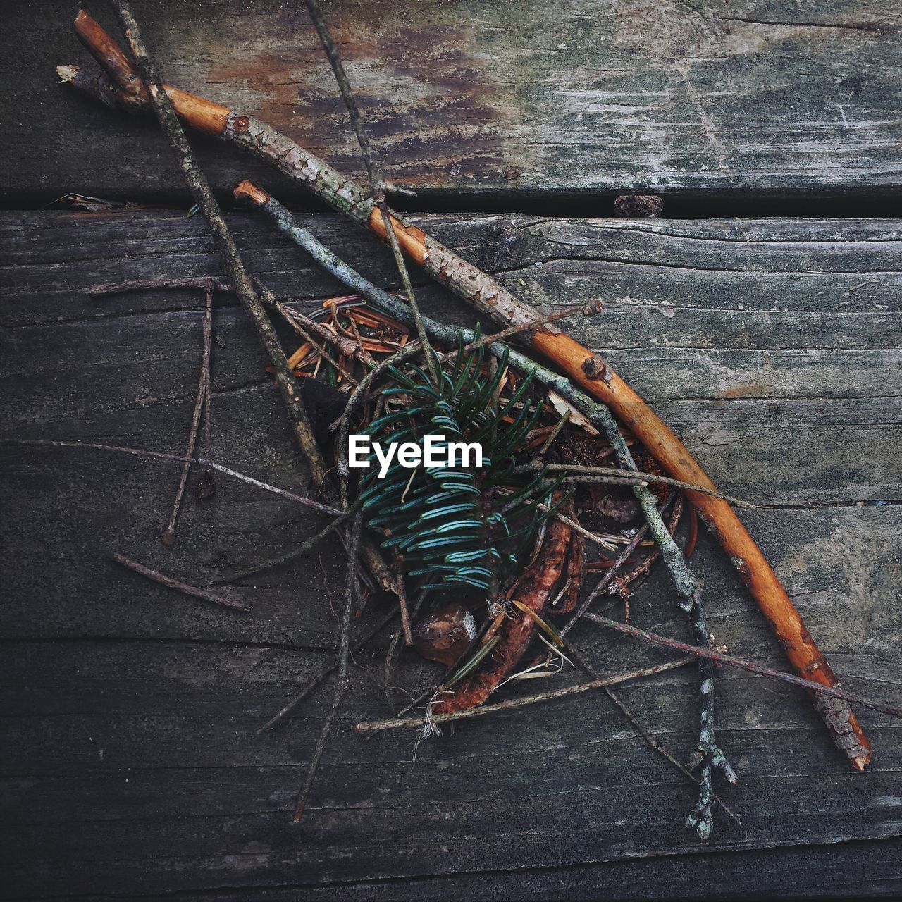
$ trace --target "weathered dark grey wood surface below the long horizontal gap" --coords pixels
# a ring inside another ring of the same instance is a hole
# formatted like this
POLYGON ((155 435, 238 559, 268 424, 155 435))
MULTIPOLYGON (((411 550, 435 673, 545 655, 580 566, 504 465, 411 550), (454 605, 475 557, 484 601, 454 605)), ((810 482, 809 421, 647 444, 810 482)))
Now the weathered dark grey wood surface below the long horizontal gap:
MULTIPOLYGON (((542 306, 603 298, 575 323, 606 353, 743 512, 811 630, 853 691, 902 701, 902 462, 895 221, 626 222, 431 216, 428 228, 542 306), (804 502, 823 506, 803 508, 804 502), (866 504, 862 502, 889 502, 866 504)), ((336 292, 250 216, 231 219, 247 261, 311 305, 336 292)), ((308 217, 386 286, 388 254, 331 216, 308 217)), ((90 300, 89 285, 216 273, 205 227, 178 211, 15 214, 0 221, 4 435, 180 450, 197 379, 199 292, 90 300)), ((432 286, 425 306, 469 311, 432 286)), ((262 353, 218 299, 213 456, 287 487, 305 483, 262 353)), ((804 695, 722 673, 720 738, 740 784, 702 849, 686 832, 692 788, 598 698, 533 707, 420 746, 364 743, 384 712, 360 676, 308 814, 294 794, 325 710, 315 695, 262 739, 254 729, 335 648, 323 568, 337 544, 234 590, 242 615, 182 599, 106 557, 123 551, 189 581, 288 550, 307 511, 225 477, 189 501, 161 547, 177 468, 97 452, 3 446, 5 892, 124 897, 820 897, 899 888, 899 724, 861 711, 877 749, 848 772, 804 695), (874 842, 861 842, 870 840, 874 842), (839 843, 837 845, 837 843, 839 843), (799 847, 799 848, 795 848, 799 847), (777 853, 761 850, 780 848, 777 853), (450 875, 458 876, 449 884, 450 875), (443 879, 446 878, 446 879, 443 879)), ((694 558, 718 641, 782 658, 732 567, 706 538, 694 558)), ((337 599, 339 580, 327 580, 337 599)), ((640 625, 685 635, 664 575, 632 603, 640 625)), ((366 615, 369 622, 371 614, 366 615)), ((658 652, 586 627, 596 667, 658 652)), ((380 673, 377 647, 358 657, 380 673)), ((427 679, 420 667, 402 676, 427 679)), ((378 676, 374 677, 378 680, 378 676)), ((577 679, 578 676, 568 676, 577 679)), ((680 755, 693 677, 623 690, 680 755)))

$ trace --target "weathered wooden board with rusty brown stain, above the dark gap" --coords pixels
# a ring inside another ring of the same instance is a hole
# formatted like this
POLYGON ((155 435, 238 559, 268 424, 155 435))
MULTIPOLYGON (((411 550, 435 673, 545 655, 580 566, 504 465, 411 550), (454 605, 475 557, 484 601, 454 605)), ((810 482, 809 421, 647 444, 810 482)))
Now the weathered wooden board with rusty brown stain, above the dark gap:
MULTIPOLYGON (((155 124, 60 87, 84 62, 74 4, 6 10, 13 202, 146 197, 180 181, 155 124)), ((137 5, 172 84, 260 115, 348 174, 354 137, 302 5, 137 5)), ((589 192, 810 189, 898 198, 897 4, 881 0, 328 3, 387 176, 424 191, 559 202, 589 192)), ((107 16, 102 4, 91 12, 107 16)), ((258 164, 198 140, 216 188, 258 164)), ((273 188, 278 179, 266 172, 273 188)), ((294 189, 286 187, 282 193, 294 189)), ((708 195, 710 199, 710 194, 708 195)), ((610 203, 610 198, 608 200, 610 203)), ((607 209, 594 211, 603 215, 607 209)))

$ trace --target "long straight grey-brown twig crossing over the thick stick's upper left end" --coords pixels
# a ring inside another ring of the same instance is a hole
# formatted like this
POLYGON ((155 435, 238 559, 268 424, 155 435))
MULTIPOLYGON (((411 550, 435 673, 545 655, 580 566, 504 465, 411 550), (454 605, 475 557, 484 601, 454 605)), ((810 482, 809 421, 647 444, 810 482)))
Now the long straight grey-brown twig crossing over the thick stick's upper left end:
POLYGON ((135 66, 150 95, 153 110, 160 121, 160 126, 166 139, 170 143, 191 197, 194 198, 195 203, 200 207, 201 212, 207 219, 207 225, 216 242, 216 249, 225 258, 226 266, 235 284, 238 297, 241 299, 244 309, 250 315, 257 335, 260 337, 262 345, 269 355, 273 378, 279 387, 282 400, 289 412, 295 438, 298 441, 301 452, 307 459, 313 482, 317 486, 321 486, 326 478, 326 465, 319 452, 316 439, 313 437, 313 430, 310 427, 307 411, 304 410, 303 402, 300 400, 300 393, 294 376, 289 369, 288 360, 279 344, 279 337, 276 335, 275 329, 272 327, 272 323, 267 317, 256 291, 253 289, 251 278, 244 267, 235 239, 228 226, 226 226, 226 220, 223 218, 222 211, 216 203, 216 198, 213 197, 213 192, 207 184, 207 179, 201 172, 188 139, 185 137, 184 131, 182 131, 179 117, 172 108, 170 97, 162 86, 156 64, 144 44, 141 29, 134 19, 131 5, 128 0, 113 0, 113 5, 116 13, 119 15, 119 21, 122 23, 125 39, 132 50, 135 66))

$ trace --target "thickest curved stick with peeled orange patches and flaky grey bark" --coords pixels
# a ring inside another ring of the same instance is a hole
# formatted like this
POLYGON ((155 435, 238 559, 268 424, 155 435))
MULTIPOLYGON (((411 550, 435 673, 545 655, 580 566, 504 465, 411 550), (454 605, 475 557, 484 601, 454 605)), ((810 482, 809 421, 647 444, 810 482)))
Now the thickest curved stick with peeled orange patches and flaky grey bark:
MULTIPOLYGON (((81 12, 76 21, 76 31, 114 82, 115 94, 122 106, 133 111, 149 106, 134 87, 135 74, 128 60, 100 25, 87 13, 81 12)), ((104 93, 99 79, 79 79, 77 67, 60 67, 58 71, 64 80, 74 81, 79 87, 97 95, 104 93)), ((226 106, 178 88, 166 86, 166 91, 172 106, 186 124, 235 143, 271 163, 339 213, 350 216, 382 239, 387 237, 379 207, 353 179, 341 175, 289 137, 253 116, 229 110, 226 106)), ((106 93, 108 97, 108 90, 106 93)), ((391 221, 404 253, 481 313, 503 326, 538 322, 540 316, 536 310, 516 299, 472 263, 466 262, 403 218, 391 214, 391 221)), ((601 357, 550 323, 538 325, 534 331, 524 333, 523 337, 532 348, 557 364, 573 382, 603 401, 649 449, 667 473, 686 483, 715 489, 686 447, 601 357)), ((689 491, 686 494, 749 587, 796 671, 824 686, 836 686, 833 670, 805 628, 786 589, 730 505, 723 499, 701 492, 689 491)), ((815 698, 815 707, 833 730, 831 722, 835 714, 820 704, 819 699, 820 696, 815 698)), ((848 726, 852 741, 845 751, 852 765, 863 770, 870 760, 870 742, 851 712, 848 726)))

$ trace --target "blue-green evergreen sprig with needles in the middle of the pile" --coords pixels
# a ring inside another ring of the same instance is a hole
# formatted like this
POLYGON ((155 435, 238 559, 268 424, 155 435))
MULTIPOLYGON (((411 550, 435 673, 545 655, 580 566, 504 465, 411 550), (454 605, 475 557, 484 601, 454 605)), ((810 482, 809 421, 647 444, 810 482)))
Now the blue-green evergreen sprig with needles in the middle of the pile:
MULTIPOLYGON (((465 353, 463 342, 453 366, 438 366, 438 385, 416 364, 389 367, 391 385, 382 395, 405 406, 370 424, 373 442, 412 441, 422 447, 424 437, 433 434, 444 435, 446 445, 478 441, 483 446, 481 467, 419 465, 411 471, 395 459, 382 479, 371 453, 361 481, 364 516, 371 526, 389 531, 382 547, 396 549, 407 575, 423 577, 424 589, 465 585, 491 592, 557 510, 548 505, 543 511, 535 503, 539 495, 550 499, 557 485, 548 488, 544 470, 529 480, 513 474, 515 456, 542 405, 527 393, 531 373, 495 405, 506 369, 505 353, 493 375, 483 374, 483 347, 465 353)), ((446 454, 440 444, 437 448, 446 454)))

